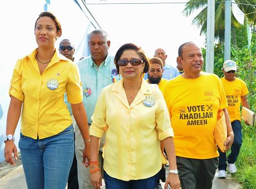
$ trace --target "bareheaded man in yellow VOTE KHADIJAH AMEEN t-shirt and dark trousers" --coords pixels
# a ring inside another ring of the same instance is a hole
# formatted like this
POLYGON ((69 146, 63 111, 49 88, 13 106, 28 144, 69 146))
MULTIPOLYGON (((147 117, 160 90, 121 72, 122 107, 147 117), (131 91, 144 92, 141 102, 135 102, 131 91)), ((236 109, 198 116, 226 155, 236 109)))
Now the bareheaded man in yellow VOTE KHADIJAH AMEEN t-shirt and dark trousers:
POLYGON ((227 100, 218 76, 201 72, 202 50, 193 42, 179 47, 178 62, 184 73, 167 82, 164 99, 174 131, 174 144, 182 188, 211 189, 218 167, 214 128, 218 112, 226 116, 227 149, 234 140, 227 100))

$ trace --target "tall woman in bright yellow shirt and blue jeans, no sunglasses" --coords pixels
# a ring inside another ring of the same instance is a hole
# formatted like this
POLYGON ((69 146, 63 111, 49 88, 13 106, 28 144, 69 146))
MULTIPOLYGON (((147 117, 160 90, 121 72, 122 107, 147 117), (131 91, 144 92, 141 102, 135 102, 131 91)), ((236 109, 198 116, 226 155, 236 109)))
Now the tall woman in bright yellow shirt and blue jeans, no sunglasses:
POLYGON ((21 114, 20 155, 28 188, 65 188, 74 157, 74 133, 64 93, 85 142, 90 161, 90 135, 83 91, 76 64, 54 48, 61 25, 52 13, 40 13, 35 22, 38 48, 19 59, 10 84, 10 107, 4 139, 6 162, 14 164, 13 134, 21 114))

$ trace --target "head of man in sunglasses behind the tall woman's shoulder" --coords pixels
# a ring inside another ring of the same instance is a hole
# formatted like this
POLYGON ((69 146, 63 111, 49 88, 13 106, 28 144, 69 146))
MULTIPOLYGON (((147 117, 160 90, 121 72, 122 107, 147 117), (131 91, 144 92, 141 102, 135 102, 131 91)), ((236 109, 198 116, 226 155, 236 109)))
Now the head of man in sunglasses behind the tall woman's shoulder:
POLYGON ((59 50, 60 50, 60 54, 74 61, 75 48, 74 48, 74 45, 70 43, 70 40, 68 39, 62 40, 60 42, 59 50))

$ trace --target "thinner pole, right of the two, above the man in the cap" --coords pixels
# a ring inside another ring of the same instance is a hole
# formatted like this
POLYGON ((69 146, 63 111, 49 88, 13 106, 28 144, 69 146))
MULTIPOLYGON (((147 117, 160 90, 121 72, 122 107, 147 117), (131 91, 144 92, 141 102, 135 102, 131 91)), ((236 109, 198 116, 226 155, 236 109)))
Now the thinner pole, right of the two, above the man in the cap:
POLYGON ((225 0, 225 49, 224 61, 230 59, 231 0, 225 0))

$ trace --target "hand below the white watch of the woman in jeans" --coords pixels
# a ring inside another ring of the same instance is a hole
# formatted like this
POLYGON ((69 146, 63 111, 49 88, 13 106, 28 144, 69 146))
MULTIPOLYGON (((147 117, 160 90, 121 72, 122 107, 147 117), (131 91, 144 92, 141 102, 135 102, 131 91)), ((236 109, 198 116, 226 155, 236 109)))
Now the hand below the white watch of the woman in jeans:
POLYGON ((4 158, 5 158, 6 162, 8 162, 12 165, 15 165, 12 153, 14 153, 14 159, 18 160, 17 147, 15 146, 13 140, 7 140, 5 142, 4 158))

